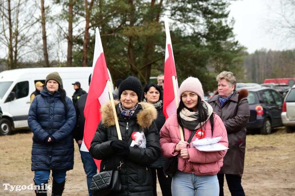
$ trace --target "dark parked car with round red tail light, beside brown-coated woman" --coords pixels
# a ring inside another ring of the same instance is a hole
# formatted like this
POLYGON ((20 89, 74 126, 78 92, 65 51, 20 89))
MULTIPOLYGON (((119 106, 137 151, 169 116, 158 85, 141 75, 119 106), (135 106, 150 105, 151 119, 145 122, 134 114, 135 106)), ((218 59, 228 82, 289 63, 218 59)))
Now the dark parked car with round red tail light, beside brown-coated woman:
POLYGON ((281 112, 283 97, 268 87, 245 87, 250 107, 247 129, 259 129, 260 134, 270 134, 271 128, 283 126, 281 112))

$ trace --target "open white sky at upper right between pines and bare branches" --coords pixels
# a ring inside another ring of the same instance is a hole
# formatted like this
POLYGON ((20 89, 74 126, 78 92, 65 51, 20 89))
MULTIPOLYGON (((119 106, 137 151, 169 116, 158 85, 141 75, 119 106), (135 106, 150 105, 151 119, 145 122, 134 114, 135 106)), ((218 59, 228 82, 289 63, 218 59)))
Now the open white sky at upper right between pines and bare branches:
MULTIPOLYGON (((290 41, 282 41, 282 37, 274 36, 267 30, 267 18, 274 14, 269 0, 239 0, 231 2, 230 18, 234 17, 233 32, 236 39, 246 46, 249 53, 265 48, 267 50, 294 49, 290 41)), ((293 43, 293 42, 292 42, 293 43)))

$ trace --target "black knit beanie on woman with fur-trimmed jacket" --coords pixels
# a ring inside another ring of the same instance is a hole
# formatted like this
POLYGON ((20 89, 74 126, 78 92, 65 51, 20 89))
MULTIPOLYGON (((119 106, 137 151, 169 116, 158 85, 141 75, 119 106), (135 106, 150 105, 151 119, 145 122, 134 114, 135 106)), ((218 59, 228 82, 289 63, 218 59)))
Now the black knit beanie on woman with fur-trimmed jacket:
POLYGON ((138 96, 138 101, 140 101, 142 94, 142 85, 137 77, 129 76, 128 78, 124 79, 123 82, 121 82, 118 94, 119 98, 121 97, 121 94, 124 90, 134 91, 138 96))

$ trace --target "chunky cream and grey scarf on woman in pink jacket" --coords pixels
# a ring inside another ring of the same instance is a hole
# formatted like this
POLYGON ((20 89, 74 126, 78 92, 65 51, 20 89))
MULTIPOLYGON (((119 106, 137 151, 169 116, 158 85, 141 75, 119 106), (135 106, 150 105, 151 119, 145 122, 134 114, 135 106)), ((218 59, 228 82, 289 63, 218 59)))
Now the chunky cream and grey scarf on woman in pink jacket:
POLYGON ((189 129, 189 130, 195 130, 199 129, 203 124, 207 122, 207 120, 210 118, 213 108, 211 105, 209 105, 207 102, 203 101, 201 104, 204 107, 204 111, 202 111, 201 115, 202 117, 207 115, 207 119, 204 122, 200 123, 199 117, 199 111, 196 112, 190 112, 188 109, 183 108, 180 112, 181 122, 183 124, 183 127, 189 129))

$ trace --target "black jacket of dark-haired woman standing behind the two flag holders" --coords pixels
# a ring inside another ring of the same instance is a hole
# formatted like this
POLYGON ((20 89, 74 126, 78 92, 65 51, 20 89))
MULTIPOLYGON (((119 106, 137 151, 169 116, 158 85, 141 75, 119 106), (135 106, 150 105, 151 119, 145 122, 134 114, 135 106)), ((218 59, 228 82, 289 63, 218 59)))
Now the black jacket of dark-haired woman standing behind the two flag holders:
MULTIPOLYGON (((166 118, 163 114, 163 105, 157 107, 156 109, 158 112, 158 116, 154 122, 156 123, 156 125, 158 127, 158 136, 160 139, 160 130, 163 127, 163 125, 165 124, 166 118)), ((154 162, 153 164, 150 165, 150 167, 164 167, 164 162, 165 162, 165 157, 163 157, 161 155, 156 162, 154 162)))

